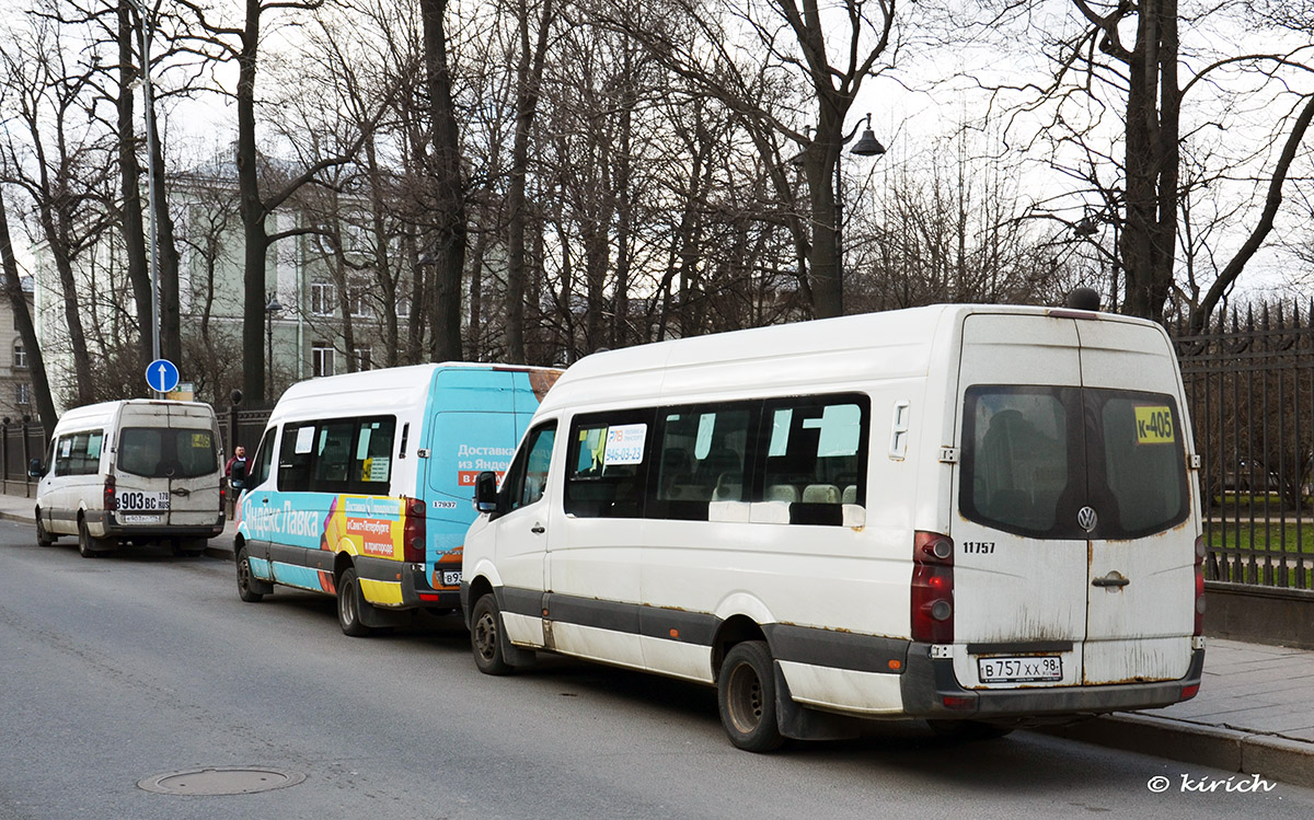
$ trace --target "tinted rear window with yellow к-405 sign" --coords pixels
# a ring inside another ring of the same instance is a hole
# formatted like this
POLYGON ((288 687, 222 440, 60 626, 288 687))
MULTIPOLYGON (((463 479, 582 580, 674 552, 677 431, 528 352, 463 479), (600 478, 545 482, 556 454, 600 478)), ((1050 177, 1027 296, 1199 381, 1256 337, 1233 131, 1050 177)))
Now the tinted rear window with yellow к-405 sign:
POLYGON ((961 507, 970 520, 1051 539, 1131 539, 1187 518, 1176 402, 1158 393, 974 386, 961 507), (1077 511, 1091 507, 1089 532, 1077 511))

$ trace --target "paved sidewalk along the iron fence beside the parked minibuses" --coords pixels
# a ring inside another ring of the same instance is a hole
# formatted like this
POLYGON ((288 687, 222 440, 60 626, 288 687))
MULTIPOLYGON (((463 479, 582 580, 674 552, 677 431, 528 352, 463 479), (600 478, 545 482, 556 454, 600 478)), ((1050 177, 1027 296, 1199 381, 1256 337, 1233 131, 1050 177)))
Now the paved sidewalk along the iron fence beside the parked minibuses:
MULTIPOLYGON (((0 519, 32 523, 33 507, 30 498, 0 494, 0 519)), ((206 555, 231 561, 233 532, 229 520, 206 555)), ((1043 731, 1314 787, 1314 652, 1210 640, 1193 699, 1043 731)))

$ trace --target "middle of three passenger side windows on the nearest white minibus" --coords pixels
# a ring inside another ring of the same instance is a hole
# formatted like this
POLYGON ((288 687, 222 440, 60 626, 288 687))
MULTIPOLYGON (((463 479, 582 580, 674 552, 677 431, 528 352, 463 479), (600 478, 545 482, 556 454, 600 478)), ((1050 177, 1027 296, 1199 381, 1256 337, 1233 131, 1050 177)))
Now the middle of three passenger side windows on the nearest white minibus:
POLYGON ((653 518, 707 520, 714 501, 749 501, 759 402, 662 410, 653 518))

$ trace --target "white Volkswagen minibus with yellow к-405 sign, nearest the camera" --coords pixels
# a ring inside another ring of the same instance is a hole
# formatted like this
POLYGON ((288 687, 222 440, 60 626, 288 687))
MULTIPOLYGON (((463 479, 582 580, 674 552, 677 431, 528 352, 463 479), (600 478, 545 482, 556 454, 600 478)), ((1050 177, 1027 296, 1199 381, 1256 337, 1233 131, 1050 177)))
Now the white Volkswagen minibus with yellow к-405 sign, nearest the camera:
POLYGON ((474 660, 715 685, 731 741, 1158 707, 1204 664, 1198 459, 1151 322, 940 305, 589 356, 465 539, 474 660))

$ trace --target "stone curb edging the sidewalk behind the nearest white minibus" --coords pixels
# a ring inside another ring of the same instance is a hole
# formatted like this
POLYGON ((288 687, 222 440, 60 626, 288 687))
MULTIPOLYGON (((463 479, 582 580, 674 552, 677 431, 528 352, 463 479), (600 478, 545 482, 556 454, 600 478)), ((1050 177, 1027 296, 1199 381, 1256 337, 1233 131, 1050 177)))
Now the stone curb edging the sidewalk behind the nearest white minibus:
POLYGON ((1314 788, 1314 744, 1280 735, 1242 732, 1137 712, 1102 715, 1084 723, 1037 727, 1034 731, 1314 788))

